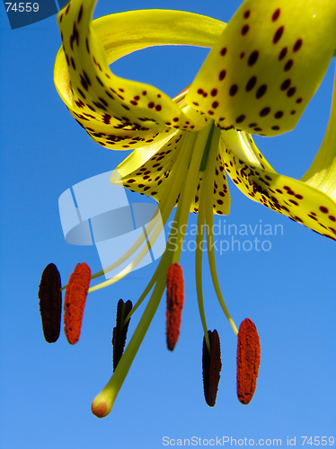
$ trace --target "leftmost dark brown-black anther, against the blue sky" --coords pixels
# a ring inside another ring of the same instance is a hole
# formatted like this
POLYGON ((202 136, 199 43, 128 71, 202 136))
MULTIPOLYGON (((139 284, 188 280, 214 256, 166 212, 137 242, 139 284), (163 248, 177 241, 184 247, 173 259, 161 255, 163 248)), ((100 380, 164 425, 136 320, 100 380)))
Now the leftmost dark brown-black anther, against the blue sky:
POLYGON ((62 294, 61 278, 53 263, 49 263, 42 273, 39 298, 44 338, 48 343, 55 343, 61 327, 62 294))

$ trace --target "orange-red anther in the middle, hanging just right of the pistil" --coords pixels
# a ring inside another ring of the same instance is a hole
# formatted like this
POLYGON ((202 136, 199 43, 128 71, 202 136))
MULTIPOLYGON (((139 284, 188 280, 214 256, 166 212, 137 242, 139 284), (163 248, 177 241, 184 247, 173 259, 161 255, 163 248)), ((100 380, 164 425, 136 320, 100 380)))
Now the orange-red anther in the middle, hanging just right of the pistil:
POLYGON ((183 271, 178 263, 173 263, 167 272, 167 346, 172 351, 180 336, 181 313, 184 302, 183 271))

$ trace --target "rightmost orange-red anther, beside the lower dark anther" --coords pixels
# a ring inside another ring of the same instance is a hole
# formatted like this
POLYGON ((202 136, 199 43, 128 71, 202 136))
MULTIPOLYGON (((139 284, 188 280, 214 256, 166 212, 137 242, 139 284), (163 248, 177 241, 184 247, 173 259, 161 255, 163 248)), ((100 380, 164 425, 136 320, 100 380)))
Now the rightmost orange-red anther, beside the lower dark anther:
POLYGON ((257 386, 261 344, 253 322, 246 318, 240 325, 237 348, 237 395, 242 404, 248 404, 257 386))

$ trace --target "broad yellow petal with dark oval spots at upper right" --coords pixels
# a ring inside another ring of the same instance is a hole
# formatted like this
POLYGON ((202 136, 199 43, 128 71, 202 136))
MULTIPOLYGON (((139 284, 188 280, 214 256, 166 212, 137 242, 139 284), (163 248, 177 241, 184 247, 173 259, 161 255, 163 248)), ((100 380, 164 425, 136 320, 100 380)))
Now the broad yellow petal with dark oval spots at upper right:
POLYGON ((335 23, 334 0, 245 0, 185 101, 221 128, 293 129, 333 55, 335 23))

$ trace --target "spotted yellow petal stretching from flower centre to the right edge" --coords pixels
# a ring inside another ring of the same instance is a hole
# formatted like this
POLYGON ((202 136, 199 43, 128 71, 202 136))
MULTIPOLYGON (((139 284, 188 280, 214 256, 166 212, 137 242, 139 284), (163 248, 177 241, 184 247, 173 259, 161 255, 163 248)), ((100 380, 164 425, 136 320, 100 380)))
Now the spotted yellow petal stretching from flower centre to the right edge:
POLYGON ((221 136, 225 170, 246 197, 336 240, 336 203, 326 193, 301 180, 275 172, 254 145, 252 137, 233 129, 221 136))

